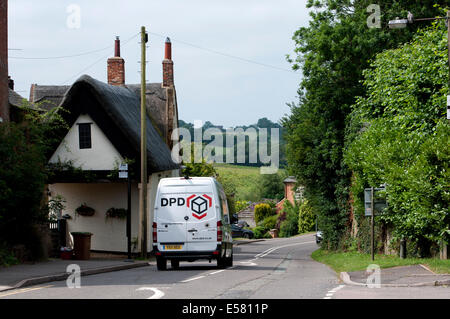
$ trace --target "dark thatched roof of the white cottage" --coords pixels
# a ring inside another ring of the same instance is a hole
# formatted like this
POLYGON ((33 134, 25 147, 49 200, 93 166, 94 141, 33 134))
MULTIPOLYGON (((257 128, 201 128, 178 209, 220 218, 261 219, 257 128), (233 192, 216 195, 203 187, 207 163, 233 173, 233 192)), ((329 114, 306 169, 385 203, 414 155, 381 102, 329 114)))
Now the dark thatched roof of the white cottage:
MULTIPOLYGON (((69 125, 79 114, 87 113, 124 157, 139 157, 140 96, 132 88, 109 85, 83 75, 65 92, 60 105, 69 111, 65 116, 69 125)), ((179 168, 148 116, 147 159, 149 172, 179 168)))

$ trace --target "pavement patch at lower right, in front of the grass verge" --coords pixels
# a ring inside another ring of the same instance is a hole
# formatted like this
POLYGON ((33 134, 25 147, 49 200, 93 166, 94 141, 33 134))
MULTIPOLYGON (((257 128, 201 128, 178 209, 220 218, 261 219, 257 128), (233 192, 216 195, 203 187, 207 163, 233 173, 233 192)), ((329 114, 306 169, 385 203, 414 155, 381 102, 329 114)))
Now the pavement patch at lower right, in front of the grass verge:
POLYGON ((423 265, 400 266, 379 270, 379 280, 374 272, 341 272, 340 279, 347 285, 381 287, 421 287, 450 285, 450 274, 436 274, 423 265))

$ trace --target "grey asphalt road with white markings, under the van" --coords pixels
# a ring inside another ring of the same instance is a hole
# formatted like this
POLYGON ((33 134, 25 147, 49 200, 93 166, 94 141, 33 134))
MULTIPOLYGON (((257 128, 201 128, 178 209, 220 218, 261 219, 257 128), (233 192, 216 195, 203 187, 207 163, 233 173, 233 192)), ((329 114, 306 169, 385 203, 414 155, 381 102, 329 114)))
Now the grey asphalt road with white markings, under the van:
MULTIPOLYGON (((155 265, 81 277, 80 288, 65 281, 0 293, 0 299, 341 299, 450 298, 446 287, 374 288, 346 286, 315 262, 313 235, 273 239, 234 248, 234 265, 181 262, 178 270, 155 265)), ((170 265, 170 263, 169 263, 170 265)))

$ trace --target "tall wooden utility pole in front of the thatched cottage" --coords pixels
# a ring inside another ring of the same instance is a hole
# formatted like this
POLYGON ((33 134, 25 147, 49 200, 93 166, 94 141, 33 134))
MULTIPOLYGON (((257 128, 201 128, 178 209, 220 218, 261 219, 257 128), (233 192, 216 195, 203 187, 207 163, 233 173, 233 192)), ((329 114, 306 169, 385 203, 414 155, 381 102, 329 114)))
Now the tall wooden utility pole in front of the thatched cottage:
POLYGON ((140 209, 141 209, 141 257, 147 258, 147 110, 145 107, 145 50, 147 43, 147 33, 145 27, 141 27, 141 197, 140 197, 140 209))

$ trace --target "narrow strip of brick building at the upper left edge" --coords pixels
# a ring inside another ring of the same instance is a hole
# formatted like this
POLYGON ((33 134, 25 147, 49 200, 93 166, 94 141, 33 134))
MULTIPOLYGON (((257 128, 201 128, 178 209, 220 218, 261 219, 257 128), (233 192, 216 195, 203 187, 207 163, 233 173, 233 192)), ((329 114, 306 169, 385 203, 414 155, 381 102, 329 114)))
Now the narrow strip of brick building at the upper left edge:
POLYGON ((8 0, 0 0, 0 122, 9 121, 8 0))

